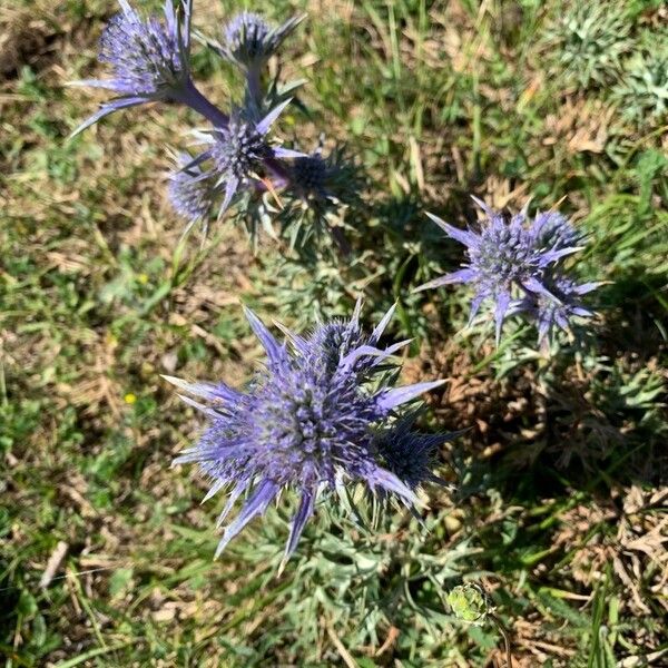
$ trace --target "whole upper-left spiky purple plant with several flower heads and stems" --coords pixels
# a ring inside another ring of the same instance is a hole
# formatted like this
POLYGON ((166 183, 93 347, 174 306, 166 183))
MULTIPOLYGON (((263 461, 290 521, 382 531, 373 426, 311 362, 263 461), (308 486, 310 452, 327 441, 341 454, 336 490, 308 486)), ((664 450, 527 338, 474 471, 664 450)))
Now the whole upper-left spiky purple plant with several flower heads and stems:
MULTIPOLYGON (((190 68, 193 0, 166 0, 164 16, 144 19, 127 0, 114 17, 100 40, 100 62, 111 69, 109 79, 88 79, 77 85, 105 88, 117 97, 84 121, 72 135, 106 116, 147 102, 168 102, 190 107, 210 128, 196 131, 205 144, 196 155, 177 153, 176 169, 169 175, 168 195, 175 210, 187 222, 187 233, 200 224, 206 235, 212 215, 219 219, 236 206, 255 233, 257 220, 274 218, 287 228, 311 212, 317 229, 332 230, 332 209, 354 198, 353 179, 344 184, 335 159, 306 155, 278 146, 269 129, 291 101, 297 84, 279 86, 273 80, 265 90, 263 72, 285 38, 304 18, 292 18, 279 27, 262 17, 242 12, 223 28, 222 40, 203 41, 245 77, 240 102, 219 109, 195 86, 190 68), (301 161, 296 161, 301 160, 301 161), (278 206, 276 207, 276 203, 278 206), (291 215, 279 215, 288 212, 291 215), (327 216, 330 216, 327 218, 327 216)), ((293 242, 295 233, 292 233, 293 242)), ((307 237, 308 235, 304 235, 307 237)), ((334 232, 341 247, 340 230, 334 232)), ((303 239, 305 240, 305 238, 303 239)))

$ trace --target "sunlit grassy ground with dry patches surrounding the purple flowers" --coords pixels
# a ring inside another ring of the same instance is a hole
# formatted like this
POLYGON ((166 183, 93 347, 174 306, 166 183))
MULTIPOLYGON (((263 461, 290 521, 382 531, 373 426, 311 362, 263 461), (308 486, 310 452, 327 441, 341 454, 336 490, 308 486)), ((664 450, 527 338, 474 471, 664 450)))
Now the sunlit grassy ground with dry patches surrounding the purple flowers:
MULTIPOLYGON (((212 33, 238 3, 196 4, 212 33)), ((659 2, 629 7, 625 39, 661 38, 659 2)), ((308 12, 283 62, 307 80, 310 114, 291 108, 282 129, 310 148, 327 128, 364 166, 348 264, 321 254, 305 273, 232 224, 179 245, 163 175, 195 117, 145 108, 66 139, 95 101, 65 84, 98 71, 114 3, 0 17, 4 666, 504 665, 493 623, 450 612, 462 581, 490 597, 513 666, 661 665, 668 118, 560 76, 543 58, 557 1, 253 8, 308 12), (470 193, 514 210, 561 202, 589 234, 578 272, 608 283, 579 344, 544 356, 511 324, 494 350, 484 325, 463 330, 465 291, 411 295, 461 262, 423 212, 472 220, 470 193), (470 430, 443 451, 455 491, 428 490, 424 527, 397 512, 370 532, 323 507, 279 577, 276 509, 214 562, 216 503, 169 469, 198 422, 159 374, 240 384, 261 352, 239 299, 306 326, 358 292, 370 321, 400 299, 392 335, 416 338, 406 381, 450 380, 428 423, 470 430)), ((217 99, 238 92, 208 55, 195 66, 217 99)))

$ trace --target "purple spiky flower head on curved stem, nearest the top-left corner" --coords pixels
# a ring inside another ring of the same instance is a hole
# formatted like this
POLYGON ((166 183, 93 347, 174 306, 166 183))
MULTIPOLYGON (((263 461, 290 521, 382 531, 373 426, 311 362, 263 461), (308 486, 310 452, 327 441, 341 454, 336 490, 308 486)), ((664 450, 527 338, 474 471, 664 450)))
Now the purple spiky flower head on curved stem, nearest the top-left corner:
POLYGON ((143 19, 127 0, 118 2, 121 11, 105 29, 99 53, 99 60, 111 67, 112 78, 76 84, 105 88, 119 97, 101 105, 73 135, 119 109, 187 96, 193 0, 183 0, 179 12, 173 0, 166 0, 164 21, 155 16, 143 19))

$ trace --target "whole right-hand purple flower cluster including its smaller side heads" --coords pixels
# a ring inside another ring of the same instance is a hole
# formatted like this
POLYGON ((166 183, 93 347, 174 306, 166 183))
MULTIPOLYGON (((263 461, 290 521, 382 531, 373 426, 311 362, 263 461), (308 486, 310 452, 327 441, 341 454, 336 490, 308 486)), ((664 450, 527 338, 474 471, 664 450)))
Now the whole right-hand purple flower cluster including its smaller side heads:
MULTIPOLYGON (((428 214, 449 237, 466 246, 469 262, 463 268, 425 283, 418 289, 471 283, 475 295, 471 304, 470 322, 481 304, 491 301, 494 304, 497 342, 503 321, 510 313, 538 313, 539 322, 542 318, 557 324, 563 317, 568 320, 568 315, 588 315, 589 312, 584 313, 572 301, 578 292, 566 282, 564 269, 559 264, 561 258, 580 250, 574 245, 580 237, 568 219, 559 214, 548 213, 538 214, 531 222, 525 210, 522 210, 507 220, 483 202, 473 199, 485 214, 479 234, 471 229, 459 229, 428 214), (566 308, 558 296, 559 291, 568 293, 571 310, 566 308), (529 308, 528 304, 532 307, 529 308)), ((596 287, 595 284, 588 285, 596 287)), ((539 328, 546 332, 544 325, 541 324, 539 328)), ((550 328, 548 326, 547 331, 550 328)))

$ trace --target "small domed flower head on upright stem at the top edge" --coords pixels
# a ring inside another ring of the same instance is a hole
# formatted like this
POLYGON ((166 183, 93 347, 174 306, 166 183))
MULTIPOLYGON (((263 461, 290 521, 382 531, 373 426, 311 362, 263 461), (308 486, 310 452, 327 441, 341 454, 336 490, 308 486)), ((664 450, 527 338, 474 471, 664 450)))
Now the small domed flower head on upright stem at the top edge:
POLYGON ((273 28, 259 14, 243 11, 223 29, 223 43, 217 50, 242 69, 258 71, 303 19, 293 17, 273 28))

